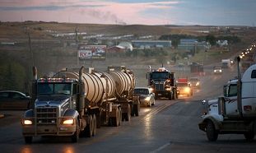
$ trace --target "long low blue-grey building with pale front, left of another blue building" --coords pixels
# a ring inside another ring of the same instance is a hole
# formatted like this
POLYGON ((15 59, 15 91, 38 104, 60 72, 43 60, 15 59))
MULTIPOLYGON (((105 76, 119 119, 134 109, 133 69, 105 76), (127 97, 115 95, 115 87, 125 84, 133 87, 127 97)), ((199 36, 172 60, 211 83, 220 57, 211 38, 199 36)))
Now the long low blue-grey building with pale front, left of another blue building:
POLYGON ((151 48, 170 48, 170 40, 132 40, 134 48, 151 49, 151 48))

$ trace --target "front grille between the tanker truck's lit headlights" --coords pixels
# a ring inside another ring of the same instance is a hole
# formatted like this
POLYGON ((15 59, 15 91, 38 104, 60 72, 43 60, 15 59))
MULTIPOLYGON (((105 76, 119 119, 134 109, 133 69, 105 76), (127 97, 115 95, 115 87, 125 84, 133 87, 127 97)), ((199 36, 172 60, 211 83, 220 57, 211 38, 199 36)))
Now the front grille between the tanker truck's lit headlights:
POLYGON ((57 123, 57 107, 45 107, 36 109, 37 124, 56 124, 57 123))

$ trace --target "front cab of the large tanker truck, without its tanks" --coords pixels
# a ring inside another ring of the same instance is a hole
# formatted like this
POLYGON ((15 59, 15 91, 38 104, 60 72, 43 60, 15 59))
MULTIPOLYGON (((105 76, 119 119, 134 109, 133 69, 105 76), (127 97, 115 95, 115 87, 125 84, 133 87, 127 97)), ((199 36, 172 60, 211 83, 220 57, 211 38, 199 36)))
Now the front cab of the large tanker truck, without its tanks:
POLYGON ((21 119, 26 143, 32 137, 71 136, 77 141, 78 81, 68 78, 40 78, 33 83, 33 109, 27 110, 21 119))

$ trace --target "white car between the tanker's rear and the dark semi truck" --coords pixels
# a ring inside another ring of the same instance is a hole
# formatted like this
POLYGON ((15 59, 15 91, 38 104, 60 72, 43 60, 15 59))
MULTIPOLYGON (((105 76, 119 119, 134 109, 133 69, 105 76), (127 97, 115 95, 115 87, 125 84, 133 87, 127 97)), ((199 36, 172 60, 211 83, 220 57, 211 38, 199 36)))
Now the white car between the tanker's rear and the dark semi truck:
POLYGON ((134 95, 140 97, 142 106, 151 107, 151 105, 155 105, 155 94, 149 87, 136 87, 134 89, 134 95))

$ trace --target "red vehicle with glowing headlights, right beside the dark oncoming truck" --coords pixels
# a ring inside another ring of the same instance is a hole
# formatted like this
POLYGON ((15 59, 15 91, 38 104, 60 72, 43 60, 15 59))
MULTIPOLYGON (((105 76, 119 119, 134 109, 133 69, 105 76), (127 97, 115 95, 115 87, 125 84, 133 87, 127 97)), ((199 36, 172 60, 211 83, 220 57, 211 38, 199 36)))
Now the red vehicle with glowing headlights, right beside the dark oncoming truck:
POLYGON ((191 88, 191 85, 189 84, 189 81, 187 78, 179 78, 177 80, 177 88, 179 95, 187 95, 192 96, 193 95, 193 89, 191 88))

